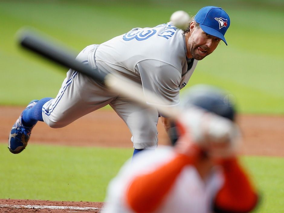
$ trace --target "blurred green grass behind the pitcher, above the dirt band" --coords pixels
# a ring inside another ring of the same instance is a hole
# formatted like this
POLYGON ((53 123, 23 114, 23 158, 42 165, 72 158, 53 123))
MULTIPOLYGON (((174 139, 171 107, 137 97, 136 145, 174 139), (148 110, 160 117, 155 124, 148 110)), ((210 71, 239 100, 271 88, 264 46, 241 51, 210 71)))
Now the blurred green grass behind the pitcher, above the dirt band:
POLYGON ((223 7, 231 18, 215 53, 199 62, 189 86, 209 83, 235 95, 244 113, 284 113, 284 1, 1 1, 0 104, 26 105, 56 96, 65 68, 21 50, 16 32, 34 27, 77 54, 133 27, 169 21, 176 10, 190 15, 206 5, 223 7))

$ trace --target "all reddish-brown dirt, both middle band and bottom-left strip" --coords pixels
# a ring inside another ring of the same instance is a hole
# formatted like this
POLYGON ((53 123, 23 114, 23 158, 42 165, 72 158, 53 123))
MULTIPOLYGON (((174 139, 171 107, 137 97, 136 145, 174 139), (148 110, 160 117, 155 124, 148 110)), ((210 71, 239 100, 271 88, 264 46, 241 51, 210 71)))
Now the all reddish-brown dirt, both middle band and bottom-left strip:
MULTIPOLYGON (((11 126, 21 111, 22 108, 19 107, 0 107, 1 142, 6 143, 11 126)), ((284 157, 284 143, 282 143, 284 139, 284 116, 240 115, 237 122, 243 134, 241 154, 284 157)), ((166 144, 168 137, 160 121, 158 131, 159 144, 166 144)), ((32 139, 29 143, 130 148, 132 147, 130 138, 131 134, 126 124, 114 111, 99 110, 61 129, 52 129, 43 122, 38 122, 34 127, 32 139)), ((0 200, 0 213, 99 212, 101 206, 102 203, 93 202, 5 199, 0 200)))

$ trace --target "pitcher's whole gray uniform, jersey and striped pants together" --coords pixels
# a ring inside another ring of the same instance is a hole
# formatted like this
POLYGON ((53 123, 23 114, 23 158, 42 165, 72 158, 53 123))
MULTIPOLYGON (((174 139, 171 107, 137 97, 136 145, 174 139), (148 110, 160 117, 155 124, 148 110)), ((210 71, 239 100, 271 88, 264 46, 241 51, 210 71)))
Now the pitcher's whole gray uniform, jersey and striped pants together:
MULTIPOLYGON (((134 28, 100 45, 86 47, 77 59, 102 72, 120 73, 141 83, 143 89, 166 99, 171 107, 179 104, 179 89, 189 81, 197 64, 192 59, 188 70, 182 33, 171 22, 134 28)), ((107 104, 129 127, 135 149, 157 146, 156 110, 140 106, 72 69, 56 98, 44 104, 42 116, 49 126, 59 128, 107 104)))

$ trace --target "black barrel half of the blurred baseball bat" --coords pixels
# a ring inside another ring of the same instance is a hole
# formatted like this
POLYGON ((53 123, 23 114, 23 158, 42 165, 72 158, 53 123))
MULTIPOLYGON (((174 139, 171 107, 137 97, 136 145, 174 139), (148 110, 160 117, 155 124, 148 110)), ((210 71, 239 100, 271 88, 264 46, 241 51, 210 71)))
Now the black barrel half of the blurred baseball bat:
POLYGON ((25 32, 20 35, 19 43, 21 46, 32 50, 53 62, 66 66, 67 68, 74 69, 80 73, 84 73, 85 75, 92 77, 94 80, 104 83, 107 73, 99 72, 98 69, 92 69, 89 65, 77 61, 76 56, 70 54, 67 50, 64 50, 64 48, 60 48, 47 41, 39 35, 31 32, 25 32))

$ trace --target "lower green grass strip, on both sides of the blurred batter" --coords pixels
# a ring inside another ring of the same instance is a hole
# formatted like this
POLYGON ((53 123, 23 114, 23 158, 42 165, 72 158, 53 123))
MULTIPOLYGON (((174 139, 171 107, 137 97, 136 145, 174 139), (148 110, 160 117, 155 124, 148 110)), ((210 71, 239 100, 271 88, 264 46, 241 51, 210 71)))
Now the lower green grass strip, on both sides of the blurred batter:
MULTIPOLYGON (((108 182, 132 149, 33 144, 12 155, 6 144, 0 144, 0 152, 0 199, 98 202, 104 201, 108 182)), ((281 212, 284 159, 244 156, 241 161, 261 195, 256 212, 281 212)))

